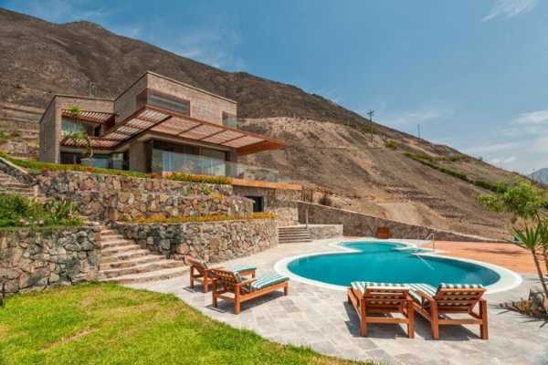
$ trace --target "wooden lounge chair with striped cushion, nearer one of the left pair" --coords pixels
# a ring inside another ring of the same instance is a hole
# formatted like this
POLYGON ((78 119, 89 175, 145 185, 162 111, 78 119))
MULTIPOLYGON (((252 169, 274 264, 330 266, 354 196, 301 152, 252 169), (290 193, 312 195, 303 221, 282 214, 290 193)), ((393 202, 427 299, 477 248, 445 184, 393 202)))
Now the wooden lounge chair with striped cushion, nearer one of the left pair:
POLYGON ((278 274, 269 274, 247 279, 227 270, 211 269, 213 281, 213 307, 217 307, 220 297, 234 302, 234 313, 239 314, 241 304, 256 297, 262 297, 283 288, 283 295, 288 295, 290 278, 278 274), (227 295, 228 294, 228 295, 227 295))

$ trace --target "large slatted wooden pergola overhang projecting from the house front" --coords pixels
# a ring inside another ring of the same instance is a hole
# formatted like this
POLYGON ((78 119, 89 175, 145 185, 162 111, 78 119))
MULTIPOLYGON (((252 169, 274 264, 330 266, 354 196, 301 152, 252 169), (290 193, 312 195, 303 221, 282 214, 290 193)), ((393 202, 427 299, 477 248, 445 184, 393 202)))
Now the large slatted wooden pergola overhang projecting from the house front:
MULTIPOLYGON (((96 116, 91 118, 96 118, 96 116)), ((81 119, 83 120, 83 118, 81 119)), ((90 142, 94 148, 116 149, 121 144, 146 132, 162 133, 186 142, 205 142, 210 145, 222 146, 235 150, 240 156, 277 150, 287 146, 282 141, 272 140, 246 130, 237 130, 205 120, 197 120, 172 110, 163 110, 150 105, 145 105, 126 120, 116 123, 101 137, 91 137, 90 142)), ((62 145, 71 147, 85 147, 87 143, 87 141, 75 141, 69 136, 61 141, 62 145)))

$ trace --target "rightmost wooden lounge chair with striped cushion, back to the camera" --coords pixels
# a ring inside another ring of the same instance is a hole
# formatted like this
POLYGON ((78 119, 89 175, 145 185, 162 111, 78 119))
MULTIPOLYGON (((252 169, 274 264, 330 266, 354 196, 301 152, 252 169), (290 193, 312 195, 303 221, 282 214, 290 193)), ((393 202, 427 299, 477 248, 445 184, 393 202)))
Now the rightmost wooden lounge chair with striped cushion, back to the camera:
POLYGON ((411 284, 409 294, 415 300, 415 310, 432 327, 432 338, 439 339, 440 325, 479 325, 481 339, 488 339, 487 301, 482 298, 485 288, 476 284, 411 284), (479 313, 474 308, 479 304, 479 313), (448 314, 465 313, 471 318, 449 318, 448 314))

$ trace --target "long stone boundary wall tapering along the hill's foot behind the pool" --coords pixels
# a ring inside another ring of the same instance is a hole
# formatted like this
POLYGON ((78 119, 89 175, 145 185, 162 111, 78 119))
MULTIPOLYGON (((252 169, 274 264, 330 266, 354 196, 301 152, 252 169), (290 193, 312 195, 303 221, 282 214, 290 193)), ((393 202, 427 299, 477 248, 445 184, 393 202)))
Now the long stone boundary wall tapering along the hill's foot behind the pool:
POLYGON ((438 241, 496 241, 476 235, 464 235, 456 232, 438 230, 433 227, 391 221, 389 219, 332 208, 320 204, 299 202, 298 206, 300 223, 306 222, 306 214, 308 212, 309 224, 342 224, 344 226, 344 235, 374 237, 377 228, 383 227, 390 230, 390 236, 393 238, 425 239, 428 235, 434 233, 438 241))

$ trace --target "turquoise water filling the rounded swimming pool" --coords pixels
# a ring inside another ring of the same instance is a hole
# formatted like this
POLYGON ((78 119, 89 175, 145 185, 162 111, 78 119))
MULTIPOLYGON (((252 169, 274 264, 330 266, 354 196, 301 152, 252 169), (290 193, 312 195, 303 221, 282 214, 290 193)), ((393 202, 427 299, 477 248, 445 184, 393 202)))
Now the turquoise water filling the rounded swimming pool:
POLYGON ((497 282, 499 274, 488 267, 438 256, 417 256, 404 245, 350 243, 355 253, 311 255, 290 262, 288 269, 302 277, 347 287, 352 281, 390 283, 482 284, 497 282))

